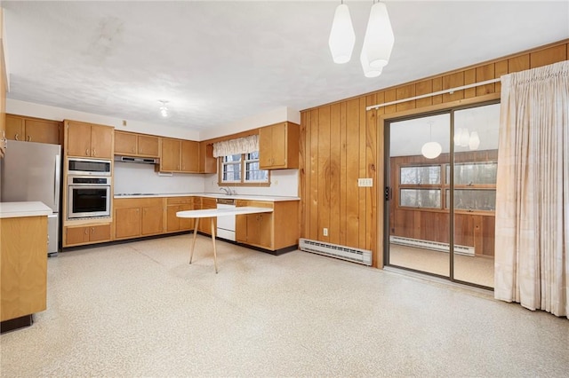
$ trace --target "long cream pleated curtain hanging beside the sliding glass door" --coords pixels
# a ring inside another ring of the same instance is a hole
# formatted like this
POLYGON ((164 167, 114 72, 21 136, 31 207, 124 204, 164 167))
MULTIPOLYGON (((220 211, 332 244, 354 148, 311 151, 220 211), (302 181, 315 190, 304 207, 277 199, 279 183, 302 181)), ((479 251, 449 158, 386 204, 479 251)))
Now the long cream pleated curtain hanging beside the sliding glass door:
POLYGON ((501 76, 494 296, 569 317, 569 61, 501 76))

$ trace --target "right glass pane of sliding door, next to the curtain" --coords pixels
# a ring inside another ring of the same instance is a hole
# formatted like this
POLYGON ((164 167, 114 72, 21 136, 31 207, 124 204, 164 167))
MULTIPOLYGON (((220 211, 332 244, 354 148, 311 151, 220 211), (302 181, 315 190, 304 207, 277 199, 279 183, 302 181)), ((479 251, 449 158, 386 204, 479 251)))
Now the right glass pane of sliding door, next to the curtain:
POLYGON ((499 120, 499 104, 454 112, 453 278, 484 287, 494 286, 499 120))

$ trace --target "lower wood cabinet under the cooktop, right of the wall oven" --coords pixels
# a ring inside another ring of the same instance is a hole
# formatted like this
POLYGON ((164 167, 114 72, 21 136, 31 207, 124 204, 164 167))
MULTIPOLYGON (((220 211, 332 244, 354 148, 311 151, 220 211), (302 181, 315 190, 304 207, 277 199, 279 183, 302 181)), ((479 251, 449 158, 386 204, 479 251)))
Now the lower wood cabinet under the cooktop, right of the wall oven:
POLYGON ((115 239, 164 232, 163 198, 120 198, 114 201, 115 239))

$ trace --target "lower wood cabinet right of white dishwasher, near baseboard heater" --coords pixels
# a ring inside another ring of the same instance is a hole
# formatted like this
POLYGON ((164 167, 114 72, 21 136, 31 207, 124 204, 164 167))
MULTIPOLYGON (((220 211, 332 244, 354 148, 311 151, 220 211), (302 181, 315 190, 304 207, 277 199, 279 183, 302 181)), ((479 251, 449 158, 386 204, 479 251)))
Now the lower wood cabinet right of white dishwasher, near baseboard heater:
POLYGON ((299 241, 299 201, 244 201, 237 207, 272 208, 272 213, 236 216, 236 241, 269 250, 291 247, 299 241))

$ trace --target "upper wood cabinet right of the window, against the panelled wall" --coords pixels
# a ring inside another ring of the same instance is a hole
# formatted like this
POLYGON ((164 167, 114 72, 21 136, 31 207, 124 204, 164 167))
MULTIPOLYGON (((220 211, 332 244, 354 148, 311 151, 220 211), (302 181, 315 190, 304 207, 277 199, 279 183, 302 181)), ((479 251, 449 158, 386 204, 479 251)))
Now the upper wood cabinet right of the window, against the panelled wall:
POLYGON ((261 169, 299 168, 300 126, 282 122, 259 129, 261 169))

